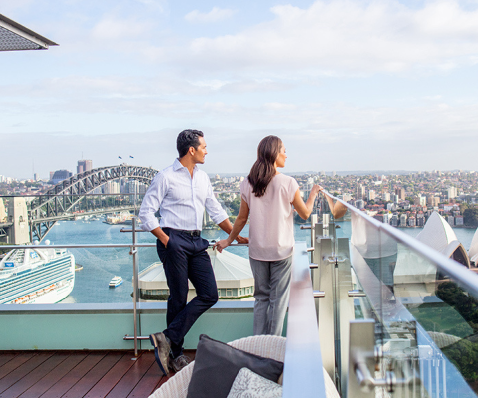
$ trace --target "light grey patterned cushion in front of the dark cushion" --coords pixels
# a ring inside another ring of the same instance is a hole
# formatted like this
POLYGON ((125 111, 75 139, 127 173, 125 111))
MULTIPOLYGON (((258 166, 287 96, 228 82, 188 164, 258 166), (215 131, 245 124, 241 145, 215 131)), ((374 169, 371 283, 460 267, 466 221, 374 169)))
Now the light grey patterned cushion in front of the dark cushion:
POLYGON ((282 386, 242 368, 227 398, 281 398, 282 386))

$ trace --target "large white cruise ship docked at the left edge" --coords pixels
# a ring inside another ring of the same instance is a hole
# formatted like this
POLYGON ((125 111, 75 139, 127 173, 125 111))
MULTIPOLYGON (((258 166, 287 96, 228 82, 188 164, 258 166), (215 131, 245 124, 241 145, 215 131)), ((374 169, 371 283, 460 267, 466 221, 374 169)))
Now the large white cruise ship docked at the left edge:
POLYGON ((14 249, 0 261, 0 304, 51 304, 75 285, 75 258, 66 249, 14 249))

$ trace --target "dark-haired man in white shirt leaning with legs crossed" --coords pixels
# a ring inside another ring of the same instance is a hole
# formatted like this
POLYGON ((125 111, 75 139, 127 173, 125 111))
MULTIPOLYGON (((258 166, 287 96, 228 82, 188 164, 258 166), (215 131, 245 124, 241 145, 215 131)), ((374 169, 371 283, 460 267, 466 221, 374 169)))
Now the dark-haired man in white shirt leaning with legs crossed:
MULTIPOLYGON (((168 365, 177 372, 189 363, 183 355, 184 336, 198 317, 218 301, 216 278, 206 252, 209 242, 201 238, 204 208, 226 233, 232 230, 226 212, 214 197, 208 175, 197 167, 208 153, 204 134, 198 130, 182 131, 177 150, 179 158, 153 178, 139 211, 142 228, 157 238, 169 287, 167 329, 149 336, 156 362, 165 375, 169 373, 168 365), (160 223, 154 215, 158 208, 160 223), (188 279, 197 293, 189 303, 188 279)), ((238 236, 237 241, 247 243, 248 239, 238 236)))

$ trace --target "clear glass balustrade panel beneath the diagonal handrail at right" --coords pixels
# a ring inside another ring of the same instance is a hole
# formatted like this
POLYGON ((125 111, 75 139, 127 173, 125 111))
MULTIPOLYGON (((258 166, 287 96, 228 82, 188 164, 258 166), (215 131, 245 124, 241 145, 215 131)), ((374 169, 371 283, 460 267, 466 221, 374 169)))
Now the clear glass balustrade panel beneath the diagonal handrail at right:
POLYGON ((376 322, 383 352, 377 369, 383 379, 393 369, 394 396, 475 397, 478 300, 355 212, 351 232, 351 263, 366 294, 356 314, 376 322))

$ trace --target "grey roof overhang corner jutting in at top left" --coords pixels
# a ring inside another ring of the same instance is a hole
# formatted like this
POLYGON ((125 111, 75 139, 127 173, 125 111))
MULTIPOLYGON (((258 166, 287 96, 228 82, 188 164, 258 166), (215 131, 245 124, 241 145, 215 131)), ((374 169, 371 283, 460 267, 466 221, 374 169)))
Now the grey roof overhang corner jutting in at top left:
POLYGON ((55 42, 0 14, 0 51, 46 50, 55 42))

